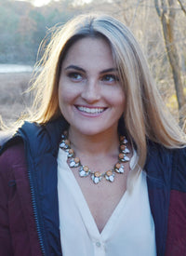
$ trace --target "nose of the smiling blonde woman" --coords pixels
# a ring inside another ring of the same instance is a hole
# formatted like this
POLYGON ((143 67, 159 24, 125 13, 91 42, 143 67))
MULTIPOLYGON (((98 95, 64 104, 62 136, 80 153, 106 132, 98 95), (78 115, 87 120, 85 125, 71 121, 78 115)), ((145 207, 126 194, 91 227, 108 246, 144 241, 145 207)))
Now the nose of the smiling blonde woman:
POLYGON ((99 82, 94 79, 87 81, 81 96, 88 103, 99 101, 100 100, 99 82))

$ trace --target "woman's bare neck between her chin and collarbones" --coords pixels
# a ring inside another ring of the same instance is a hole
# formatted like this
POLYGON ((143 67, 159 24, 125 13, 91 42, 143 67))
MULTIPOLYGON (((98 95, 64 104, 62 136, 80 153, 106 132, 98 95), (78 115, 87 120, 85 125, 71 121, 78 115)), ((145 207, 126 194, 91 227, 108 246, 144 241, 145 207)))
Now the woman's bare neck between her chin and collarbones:
POLYGON ((75 152, 86 152, 86 155, 117 154, 118 152, 119 139, 117 129, 95 135, 86 135, 70 128, 69 140, 75 152))

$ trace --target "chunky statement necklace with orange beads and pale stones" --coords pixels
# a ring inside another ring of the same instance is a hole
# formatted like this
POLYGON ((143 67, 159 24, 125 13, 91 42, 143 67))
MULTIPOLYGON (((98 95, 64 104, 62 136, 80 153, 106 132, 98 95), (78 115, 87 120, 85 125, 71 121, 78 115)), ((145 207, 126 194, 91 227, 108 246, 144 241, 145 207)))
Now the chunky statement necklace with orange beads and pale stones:
POLYGON ((90 176, 91 180, 98 184, 102 178, 104 177, 106 181, 113 182, 115 173, 124 173, 125 162, 128 162, 130 158, 126 155, 130 153, 129 149, 126 147, 126 143, 128 142, 126 140, 125 136, 119 137, 119 155, 118 155, 118 162, 114 165, 113 169, 107 170, 104 173, 100 173, 100 171, 91 171, 90 168, 87 166, 83 166, 81 164, 80 158, 75 156, 73 149, 71 148, 71 141, 68 140, 68 132, 64 131, 64 133, 61 135, 61 141, 60 141, 60 148, 64 150, 67 153, 67 156, 69 158, 69 167, 70 168, 77 168, 79 170, 79 176, 80 177, 87 177, 90 176))

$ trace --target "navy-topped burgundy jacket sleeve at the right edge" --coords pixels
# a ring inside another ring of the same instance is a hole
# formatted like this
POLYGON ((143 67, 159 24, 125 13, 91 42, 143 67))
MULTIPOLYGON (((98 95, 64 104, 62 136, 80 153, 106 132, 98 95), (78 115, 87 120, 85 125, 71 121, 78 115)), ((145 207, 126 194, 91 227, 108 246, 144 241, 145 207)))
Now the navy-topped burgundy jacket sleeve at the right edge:
POLYGON ((175 151, 171 182, 166 256, 186 256, 186 148, 175 151))

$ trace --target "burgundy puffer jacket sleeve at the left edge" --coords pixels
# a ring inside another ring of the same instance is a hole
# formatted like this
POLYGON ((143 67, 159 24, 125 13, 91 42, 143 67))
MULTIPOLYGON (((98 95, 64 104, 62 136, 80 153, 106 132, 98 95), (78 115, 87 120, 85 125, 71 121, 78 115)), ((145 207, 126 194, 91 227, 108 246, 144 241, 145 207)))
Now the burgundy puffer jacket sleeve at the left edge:
POLYGON ((0 155, 0 255, 41 255, 22 142, 0 155))

